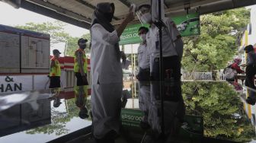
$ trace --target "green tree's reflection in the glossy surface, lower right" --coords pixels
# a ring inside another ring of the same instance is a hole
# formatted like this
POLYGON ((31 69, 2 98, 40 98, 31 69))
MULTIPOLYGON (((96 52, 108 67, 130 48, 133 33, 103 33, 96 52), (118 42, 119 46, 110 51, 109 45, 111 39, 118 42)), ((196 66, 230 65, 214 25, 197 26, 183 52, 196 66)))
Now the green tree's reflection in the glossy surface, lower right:
POLYGON ((185 82, 186 114, 203 116, 204 135, 233 141, 251 141, 254 127, 248 121, 234 87, 226 82, 185 82))

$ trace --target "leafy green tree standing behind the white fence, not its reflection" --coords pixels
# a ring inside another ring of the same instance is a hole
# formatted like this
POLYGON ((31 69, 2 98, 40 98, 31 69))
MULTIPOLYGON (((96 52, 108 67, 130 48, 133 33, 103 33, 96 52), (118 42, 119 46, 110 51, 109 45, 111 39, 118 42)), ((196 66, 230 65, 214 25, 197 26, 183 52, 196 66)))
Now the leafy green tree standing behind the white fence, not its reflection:
POLYGON ((245 8, 202 15, 200 36, 184 37, 183 68, 186 71, 225 68, 235 56, 237 37, 248 24, 249 17, 245 8))

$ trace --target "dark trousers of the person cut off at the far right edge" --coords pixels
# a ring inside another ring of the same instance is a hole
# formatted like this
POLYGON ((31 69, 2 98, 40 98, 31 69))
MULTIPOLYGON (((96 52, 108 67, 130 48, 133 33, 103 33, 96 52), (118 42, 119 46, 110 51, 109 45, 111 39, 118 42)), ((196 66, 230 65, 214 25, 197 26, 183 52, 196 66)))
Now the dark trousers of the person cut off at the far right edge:
POLYGON ((245 85, 256 89, 254 84, 254 76, 256 75, 256 65, 248 65, 245 69, 245 85))

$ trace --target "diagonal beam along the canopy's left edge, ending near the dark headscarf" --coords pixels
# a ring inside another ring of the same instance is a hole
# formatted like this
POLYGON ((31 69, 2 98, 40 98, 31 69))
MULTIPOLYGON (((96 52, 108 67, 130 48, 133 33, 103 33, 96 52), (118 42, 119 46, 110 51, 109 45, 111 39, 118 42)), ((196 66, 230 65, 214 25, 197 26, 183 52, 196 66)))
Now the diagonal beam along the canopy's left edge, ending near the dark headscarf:
POLYGON ((28 11, 36 12, 37 14, 45 15, 46 17, 52 17, 56 20, 63 21, 85 29, 89 29, 91 27, 90 23, 81 20, 79 21, 77 17, 70 17, 64 14, 59 14, 59 12, 56 12, 53 9, 45 8, 41 5, 36 5, 32 2, 27 2, 25 0, 21 0, 21 8, 27 9, 28 11))

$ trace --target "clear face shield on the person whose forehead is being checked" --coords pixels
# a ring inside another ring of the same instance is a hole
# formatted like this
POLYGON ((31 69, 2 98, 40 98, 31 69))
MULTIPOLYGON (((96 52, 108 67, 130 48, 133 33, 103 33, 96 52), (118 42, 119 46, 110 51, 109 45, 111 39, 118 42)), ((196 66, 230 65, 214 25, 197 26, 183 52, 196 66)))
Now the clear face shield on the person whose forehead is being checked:
POLYGON ((150 8, 142 7, 136 12, 137 17, 141 24, 150 24, 152 17, 150 14, 150 8))

